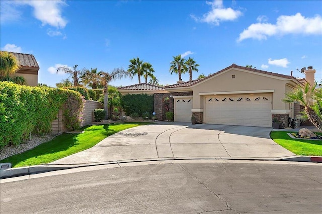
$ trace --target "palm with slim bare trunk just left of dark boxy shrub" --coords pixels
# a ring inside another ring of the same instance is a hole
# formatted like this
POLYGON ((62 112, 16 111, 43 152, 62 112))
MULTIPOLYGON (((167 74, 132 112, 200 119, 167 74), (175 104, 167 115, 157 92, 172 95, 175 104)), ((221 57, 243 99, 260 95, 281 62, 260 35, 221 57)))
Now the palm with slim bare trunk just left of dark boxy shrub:
POLYGON ((115 79, 121 79, 124 77, 127 77, 128 72, 125 71, 123 68, 116 68, 113 69, 112 72, 101 72, 101 84, 103 86, 103 93, 104 93, 104 110, 106 112, 105 115, 105 119, 108 118, 108 84, 109 82, 111 82, 112 80, 115 79))

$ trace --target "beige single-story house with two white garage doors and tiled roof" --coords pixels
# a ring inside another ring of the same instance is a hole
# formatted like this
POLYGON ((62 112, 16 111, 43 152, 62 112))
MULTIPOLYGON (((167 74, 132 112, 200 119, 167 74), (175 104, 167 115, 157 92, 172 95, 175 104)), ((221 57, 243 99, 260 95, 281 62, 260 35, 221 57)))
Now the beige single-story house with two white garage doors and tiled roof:
POLYGON ((298 85, 314 84, 315 72, 308 67, 305 78, 295 78, 232 64, 202 79, 165 86, 163 93, 154 93, 154 111, 159 120, 169 110, 174 121, 191 122, 193 116, 197 123, 223 125, 272 127, 277 118, 284 128, 303 109, 282 98, 298 85))

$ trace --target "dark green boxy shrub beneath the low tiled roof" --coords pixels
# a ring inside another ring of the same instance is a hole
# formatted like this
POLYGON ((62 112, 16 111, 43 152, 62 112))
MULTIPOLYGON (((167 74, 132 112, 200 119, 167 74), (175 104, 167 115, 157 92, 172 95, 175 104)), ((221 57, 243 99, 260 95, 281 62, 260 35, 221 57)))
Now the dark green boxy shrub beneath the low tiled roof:
POLYGON ((143 112, 154 111, 154 96, 147 94, 127 94, 121 97, 121 105, 126 115, 138 113, 142 116, 143 112))

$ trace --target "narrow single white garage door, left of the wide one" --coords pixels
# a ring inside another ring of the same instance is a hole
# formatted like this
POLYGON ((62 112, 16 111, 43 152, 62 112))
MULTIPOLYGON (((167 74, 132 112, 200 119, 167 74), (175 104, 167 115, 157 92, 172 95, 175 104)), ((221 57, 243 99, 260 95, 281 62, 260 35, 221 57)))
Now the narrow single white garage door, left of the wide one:
POLYGON ((175 98, 174 99, 174 120, 177 122, 191 122, 191 98, 175 98))

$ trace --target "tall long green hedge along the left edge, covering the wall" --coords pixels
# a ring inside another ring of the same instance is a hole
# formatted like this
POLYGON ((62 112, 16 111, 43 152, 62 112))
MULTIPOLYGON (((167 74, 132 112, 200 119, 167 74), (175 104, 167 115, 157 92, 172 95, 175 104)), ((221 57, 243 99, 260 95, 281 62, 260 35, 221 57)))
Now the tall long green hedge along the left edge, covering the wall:
POLYGON ((50 132, 51 123, 64 103, 66 127, 77 128, 82 122, 83 109, 78 92, 0 82, 0 148, 21 144, 30 132, 37 135, 50 132))

